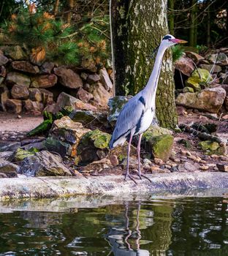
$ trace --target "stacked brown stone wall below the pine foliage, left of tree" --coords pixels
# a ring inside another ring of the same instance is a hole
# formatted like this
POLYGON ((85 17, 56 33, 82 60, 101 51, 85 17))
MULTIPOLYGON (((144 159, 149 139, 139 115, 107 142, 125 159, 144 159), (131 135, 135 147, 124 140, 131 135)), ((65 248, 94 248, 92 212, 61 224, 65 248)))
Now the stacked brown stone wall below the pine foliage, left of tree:
POLYGON ((107 108, 113 88, 107 70, 98 72, 92 61, 84 61, 82 65, 80 71, 57 67, 52 62, 37 65, 28 61, 20 46, 3 48, 0 50, 0 110, 35 115, 45 108, 55 111, 59 109, 55 100, 62 101, 58 99, 61 92, 65 92, 65 97, 67 92, 75 109, 107 108))

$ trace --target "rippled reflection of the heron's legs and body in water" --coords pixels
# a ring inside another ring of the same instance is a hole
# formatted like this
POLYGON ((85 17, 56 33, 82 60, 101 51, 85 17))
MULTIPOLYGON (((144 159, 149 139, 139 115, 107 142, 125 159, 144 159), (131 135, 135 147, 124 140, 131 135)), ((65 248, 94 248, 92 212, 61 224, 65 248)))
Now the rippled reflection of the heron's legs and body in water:
POLYGON ((125 204, 125 228, 112 227, 110 232, 107 234, 107 240, 112 247, 112 250, 107 255, 115 256, 149 256, 150 253, 146 249, 140 249, 140 203, 137 204, 137 225, 135 230, 129 228, 129 203, 125 204), (129 240, 134 241, 134 244, 130 244, 129 240))

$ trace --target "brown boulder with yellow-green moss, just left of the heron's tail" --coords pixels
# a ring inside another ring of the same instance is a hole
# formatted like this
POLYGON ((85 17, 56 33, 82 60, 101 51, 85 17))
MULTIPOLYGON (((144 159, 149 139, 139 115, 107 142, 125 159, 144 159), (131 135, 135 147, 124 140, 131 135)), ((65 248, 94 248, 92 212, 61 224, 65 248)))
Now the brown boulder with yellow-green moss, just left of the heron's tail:
POLYGON ((111 135, 99 129, 86 132, 77 146, 77 162, 85 165, 107 156, 111 135))

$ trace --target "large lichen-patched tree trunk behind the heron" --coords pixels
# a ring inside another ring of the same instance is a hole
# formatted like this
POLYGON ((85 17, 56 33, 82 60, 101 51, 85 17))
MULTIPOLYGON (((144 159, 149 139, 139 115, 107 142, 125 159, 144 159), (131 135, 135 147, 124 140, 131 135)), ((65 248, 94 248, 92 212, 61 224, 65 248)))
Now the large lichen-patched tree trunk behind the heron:
MULTIPOLYGON (((154 59, 148 59, 168 33, 167 0, 112 1, 112 31, 117 95, 136 94, 148 82, 154 59)), ((156 97, 156 116, 162 127, 175 127, 172 54, 167 50, 156 97)))

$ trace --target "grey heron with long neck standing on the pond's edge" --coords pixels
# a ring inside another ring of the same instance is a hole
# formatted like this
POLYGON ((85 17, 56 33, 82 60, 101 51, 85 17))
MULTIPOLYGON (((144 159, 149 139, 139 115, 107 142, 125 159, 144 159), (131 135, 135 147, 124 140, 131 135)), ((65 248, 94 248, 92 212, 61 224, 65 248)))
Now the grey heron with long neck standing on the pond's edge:
MULTIPOLYGON (((164 52, 172 45, 185 42, 185 40, 176 39, 170 34, 167 34, 163 37, 157 50, 153 71, 148 80, 148 83, 146 84, 145 88, 142 89, 142 91, 136 94, 132 99, 129 99, 129 102, 124 105, 121 113, 118 116, 115 124, 115 129, 110 140, 110 149, 118 145, 123 145, 126 140, 129 142, 125 180, 126 177, 129 177, 132 179, 132 181, 134 181, 134 178, 129 175, 129 155, 132 137, 134 135, 139 135, 139 140, 137 144, 137 175, 140 177, 140 179, 142 179, 143 176, 140 170, 140 143, 142 139, 142 133, 151 126, 155 114, 156 89, 159 82, 159 75, 161 72, 161 64, 164 52)), ((134 183, 136 182, 134 181, 134 183)))

